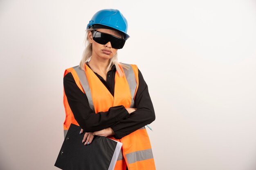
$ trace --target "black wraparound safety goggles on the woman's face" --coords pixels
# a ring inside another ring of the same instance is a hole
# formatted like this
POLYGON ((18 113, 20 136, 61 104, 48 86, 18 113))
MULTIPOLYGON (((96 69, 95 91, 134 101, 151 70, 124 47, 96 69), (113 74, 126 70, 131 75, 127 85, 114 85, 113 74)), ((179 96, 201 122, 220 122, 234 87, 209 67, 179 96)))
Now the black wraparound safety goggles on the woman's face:
POLYGON ((125 40, 119 37, 116 37, 111 34, 101 33, 99 31, 92 31, 92 39, 99 44, 107 44, 109 41, 112 48, 121 49, 124 47, 125 40))

